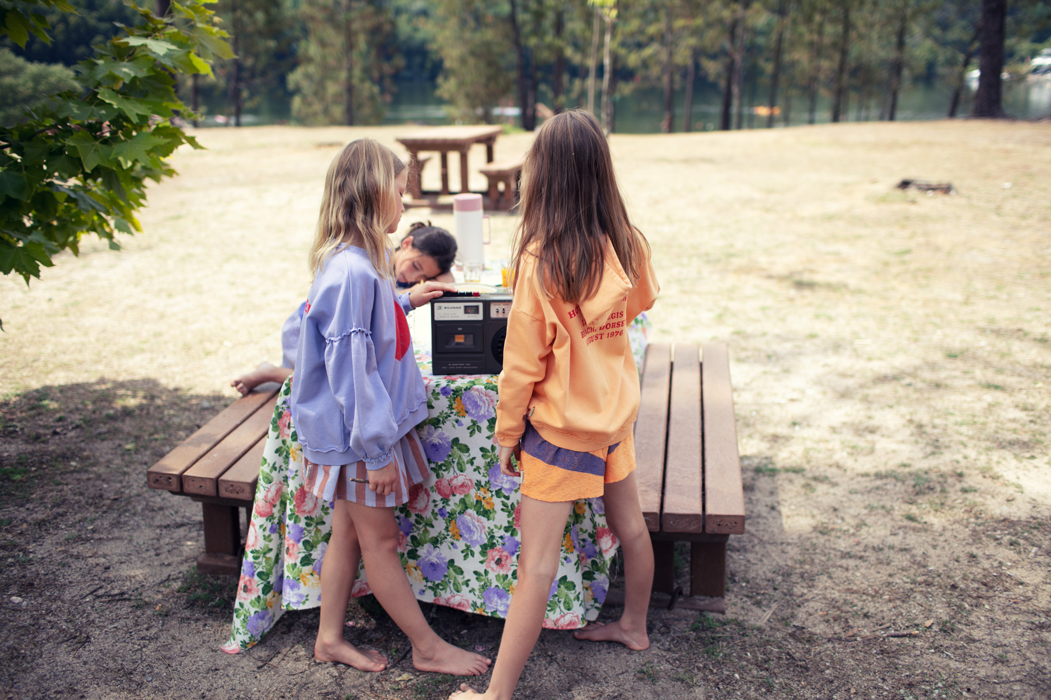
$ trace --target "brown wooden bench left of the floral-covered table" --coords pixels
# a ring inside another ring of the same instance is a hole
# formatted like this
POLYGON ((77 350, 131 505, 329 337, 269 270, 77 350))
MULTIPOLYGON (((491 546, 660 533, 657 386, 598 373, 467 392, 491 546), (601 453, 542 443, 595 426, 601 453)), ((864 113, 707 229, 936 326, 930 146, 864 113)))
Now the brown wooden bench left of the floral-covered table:
POLYGON ((251 517, 255 482, 277 401, 277 384, 263 384, 238 399, 146 471, 150 488, 201 503, 204 548, 198 571, 241 572, 241 514, 251 517))

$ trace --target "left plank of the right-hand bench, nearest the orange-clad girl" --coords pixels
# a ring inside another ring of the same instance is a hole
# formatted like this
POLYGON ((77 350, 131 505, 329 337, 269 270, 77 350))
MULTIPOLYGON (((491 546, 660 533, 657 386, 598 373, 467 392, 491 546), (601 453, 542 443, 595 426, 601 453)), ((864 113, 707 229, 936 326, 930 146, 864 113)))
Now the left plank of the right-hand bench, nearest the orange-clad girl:
POLYGON ((664 440, 667 436, 667 395, 672 382, 672 348, 646 345, 642 399, 635 419, 635 482, 642 516, 651 532, 660 530, 660 497, 664 483, 664 440))

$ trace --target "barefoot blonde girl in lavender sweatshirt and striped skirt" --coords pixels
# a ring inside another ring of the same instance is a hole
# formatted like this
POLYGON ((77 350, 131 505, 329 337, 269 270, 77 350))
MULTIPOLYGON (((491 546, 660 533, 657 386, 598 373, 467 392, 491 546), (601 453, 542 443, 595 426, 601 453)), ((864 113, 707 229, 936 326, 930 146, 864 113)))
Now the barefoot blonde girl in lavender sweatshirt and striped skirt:
POLYGON ((427 395, 406 313, 455 291, 425 282, 395 296, 388 234, 401 218, 408 171, 370 139, 347 145, 325 178, 310 250, 314 282, 300 331, 292 421, 303 444, 307 488, 334 501, 322 567, 320 661, 383 671, 388 660, 343 637, 359 558, 376 598, 412 642, 420 671, 477 676, 490 661, 431 630, 398 558, 394 508, 430 473, 416 425, 427 395))

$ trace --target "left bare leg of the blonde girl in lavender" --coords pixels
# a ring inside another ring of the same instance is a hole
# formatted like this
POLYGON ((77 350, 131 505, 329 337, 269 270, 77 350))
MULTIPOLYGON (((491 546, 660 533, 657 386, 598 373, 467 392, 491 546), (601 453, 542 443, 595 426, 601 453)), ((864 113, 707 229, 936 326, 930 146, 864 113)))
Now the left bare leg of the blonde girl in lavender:
POLYGON ((357 649, 343 638, 350 589, 354 586, 357 564, 362 558, 357 532, 347 505, 346 501, 335 502, 332 536, 322 564, 322 619, 314 641, 314 658, 318 661, 338 661, 360 671, 383 671, 387 667, 387 657, 378 652, 357 649))

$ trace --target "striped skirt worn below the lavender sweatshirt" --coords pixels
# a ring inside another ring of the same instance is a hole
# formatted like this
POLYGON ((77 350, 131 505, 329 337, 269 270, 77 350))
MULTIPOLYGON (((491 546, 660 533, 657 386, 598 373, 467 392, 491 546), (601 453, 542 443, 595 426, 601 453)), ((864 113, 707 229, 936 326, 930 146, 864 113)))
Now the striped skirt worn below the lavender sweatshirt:
POLYGON ((304 480, 307 490, 325 503, 350 501, 378 508, 396 508, 407 503, 409 488, 421 484, 431 475, 424 445, 415 430, 409 430, 394 443, 394 466, 398 479, 394 482, 394 490, 386 496, 376 495, 375 491, 369 490, 368 484, 350 481, 352 478, 368 480, 369 470, 365 468, 365 462, 329 466, 314 464, 304 458, 303 464, 307 470, 304 480))

